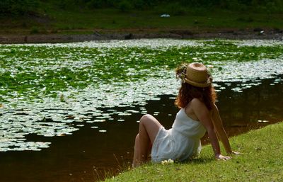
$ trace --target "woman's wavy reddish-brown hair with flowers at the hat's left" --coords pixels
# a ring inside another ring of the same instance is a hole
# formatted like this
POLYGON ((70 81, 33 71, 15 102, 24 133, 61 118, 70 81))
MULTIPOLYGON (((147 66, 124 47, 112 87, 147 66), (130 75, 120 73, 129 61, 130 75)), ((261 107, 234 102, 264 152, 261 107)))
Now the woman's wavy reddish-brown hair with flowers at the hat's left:
POLYGON ((185 108, 193 98, 198 98, 205 104, 205 106, 207 106, 209 110, 212 110, 213 104, 216 101, 216 92, 214 86, 211 84, 210 86, 201 88, 187 84, 187 82, 183 81, 182 76, 180 76, 182 75, 181 73, 185 72, 186 67, 187 64, 182 64, 180 67, 175 69, 176 76, 182 80, 178 96, 175 100, 175 105, 177 105, 179 108, 185 108))

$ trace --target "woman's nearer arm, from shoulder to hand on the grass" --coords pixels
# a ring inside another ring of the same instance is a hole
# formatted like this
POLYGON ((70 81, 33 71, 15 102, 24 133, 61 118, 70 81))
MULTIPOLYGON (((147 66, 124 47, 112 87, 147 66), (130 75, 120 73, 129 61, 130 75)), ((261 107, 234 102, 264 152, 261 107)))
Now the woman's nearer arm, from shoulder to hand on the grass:
POLYGON ((195 115, 200 120, 202 125, 204 125, 204 127, 207 129, 207 134, 212 144, 215 158, 223 160, 230 159, 231 157, 225 157, 221 155, 219 142, 216 136, 216 132, 214 131, 214 125, 212 123, 212 118, 209 110, 207 109, 207 106, 205 106, 204 103, 202 103, 202 101, 197 98, 192 99, 191 104, 192 110, 194 111, 195 115))

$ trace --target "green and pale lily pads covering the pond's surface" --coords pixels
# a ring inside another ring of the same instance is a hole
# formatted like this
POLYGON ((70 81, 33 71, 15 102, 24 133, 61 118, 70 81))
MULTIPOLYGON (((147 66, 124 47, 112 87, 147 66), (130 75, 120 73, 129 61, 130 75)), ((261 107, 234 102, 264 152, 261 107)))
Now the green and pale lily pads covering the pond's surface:
POLYGON ((237 82, 233 91, 239 92, 261 79, 279 83, 282 52, 283 42, 273 40, 0 45, 0 150, 42 149, 50 142, 27 142, 25 135, 71 135, 83 123, 146 113, 146 101, 177 93, 174 68, 181 62, 208 65, 218 91, 225 89, 218 82, 237 82), (140 110, 101 110, 133 105, 140 110))

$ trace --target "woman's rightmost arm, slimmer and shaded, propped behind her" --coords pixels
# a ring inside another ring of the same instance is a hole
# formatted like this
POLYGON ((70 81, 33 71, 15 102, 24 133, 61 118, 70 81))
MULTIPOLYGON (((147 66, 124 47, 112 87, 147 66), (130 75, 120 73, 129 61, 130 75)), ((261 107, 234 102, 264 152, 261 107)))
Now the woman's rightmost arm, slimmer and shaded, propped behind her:
POLYGON ((227 134, 226 134, 224 127, 222 125, 222 120, 221 120, 220 115, 219 115, 219 110, 218 110, 218 108, 215 104, 212 108, 212 121, 214 123, 214 128, 216 130, 216 133, 217 133, 219 139, 221 140, 222 144, 224 145, 226 153, 232 154, 229 139, 228 139, 227 134))

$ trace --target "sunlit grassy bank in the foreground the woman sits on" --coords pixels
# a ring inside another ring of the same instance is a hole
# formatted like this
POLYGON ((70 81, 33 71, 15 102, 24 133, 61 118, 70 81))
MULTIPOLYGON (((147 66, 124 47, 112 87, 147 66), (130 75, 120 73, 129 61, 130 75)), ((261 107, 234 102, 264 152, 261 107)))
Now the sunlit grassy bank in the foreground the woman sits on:
MULTIPOLYGON (((283 123, 231 138, 240 156, 215 161, 210 145, 200 159, 185 164, 146 164, 106 181, 282 181, 283 123)), ((223 149, 222 149, 223 151, 223 149)))

